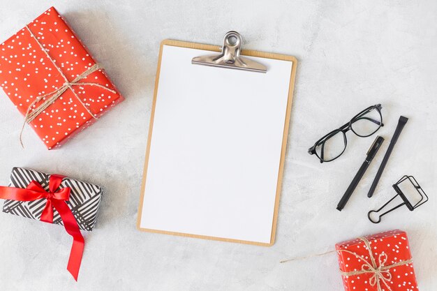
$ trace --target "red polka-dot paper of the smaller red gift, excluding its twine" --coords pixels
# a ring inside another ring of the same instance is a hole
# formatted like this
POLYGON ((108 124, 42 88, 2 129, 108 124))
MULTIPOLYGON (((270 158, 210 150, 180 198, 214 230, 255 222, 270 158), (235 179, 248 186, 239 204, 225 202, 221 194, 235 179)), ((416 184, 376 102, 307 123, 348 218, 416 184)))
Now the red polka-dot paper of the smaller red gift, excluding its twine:
MULTIPOLYGON (((406 232, 402 230, 391 230, 380 232, 378 234, 366 237, 372 248, 373 257, 385 253, 387 263, 385 265, 395 264, 397 262, 411 259, 410 248, 406 232)), ((339 255, 339 266, 343 272, 358 271, 362 269, 364 260, 370 261, 369 251, 361 239, 352 239, 343 241, 335 246, 336 250, 347 250, 360 255, 362 260, 355 255, 347 252, 337 252, 339 255)), ((378 260, 376 260, 378 264, 378 260)), ((389 269, 392 280, 388 283, 392 291, 418 291, 415 278, 413 263, 389 269)), ((360 274, 355 276, 343 276, 344 290, 346 291, 377 291, 376 285, 370 284, 372 274, 360 274)), ((382 291, 390 291, 385 285, 381 285, 382 291)))

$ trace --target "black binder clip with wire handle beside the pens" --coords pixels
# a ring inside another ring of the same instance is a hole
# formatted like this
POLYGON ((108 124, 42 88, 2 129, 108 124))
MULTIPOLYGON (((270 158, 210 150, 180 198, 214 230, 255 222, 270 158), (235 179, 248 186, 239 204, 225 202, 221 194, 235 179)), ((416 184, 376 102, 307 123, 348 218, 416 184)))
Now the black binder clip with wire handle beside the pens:
POLYGON ((371 221, 372 223, 380 223, 381 217, 385 216, 385 214, 392 212, 394 209, 398 209, 399 207, 401 207, 403 205, 406 205, 406 207, 408 207, 408 209, 410 209, 410 211, 413 211, 414 209, 416 209, 417 207, 420 207, 420 205, 422 205, 428 201, 427 194, 424 193, 424 191, 422 190, 422 187, 420 187, 420 185, 417 183, 416 179, 413 176, 407 176, 407 175, 403 176, 399 181, 397 181, 396 184, 393 185, 393 188, 394 188, 394 191, 396 191, 397 195, 394 195, 394 197, 392 197, 392 199, 390 199, 387 203, 385 203, 383 205, 383 207, 381 207, 380 209, 371 210, 367 214, 367 217, 369 217, 369 221, 371 221), (412 202, 410 202, 410 200, 408 200, 406 195, 401 191, 401 188, 399 188, 399 185, 403 181, 410 181, 410 183, 413 184, 414 188, 417 190, 417 193, 419 193, 419 196, 417 196, 417 198, 418 198, 417 202, 415 202, 414 204, 412 202), (378 221, 374 221, 371 218, 372 212, 374 212, 375 214, 378 214, 379 211, 382 211, 384 209, 384 207, 386 207, 388 204, 390 204, 390 202, 392 202, 397 196, 400 196, 401 199, 403 200, 403 202, 401 204, 393 207, 390 210, 385 211, 383 214, 380 214, 380 216, 378 216, 378 221))

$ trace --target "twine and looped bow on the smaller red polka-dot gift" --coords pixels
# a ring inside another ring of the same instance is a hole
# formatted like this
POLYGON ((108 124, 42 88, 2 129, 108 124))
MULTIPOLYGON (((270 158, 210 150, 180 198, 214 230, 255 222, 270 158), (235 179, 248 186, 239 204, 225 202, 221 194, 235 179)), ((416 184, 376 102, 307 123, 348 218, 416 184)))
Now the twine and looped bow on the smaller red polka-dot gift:
POLYGON ((361 275, 361 274, 372 274, 371 278, 369 279, 369 284, 372 287, 374 287, 376 285, 378 288, 378 291, 382 291, 381 283, 383 283, 385 285, 385 287, 387 287, 387 289, 391 291, 392 289, 390 288, 390 285, 388 285, 388 283, 390 283, 392 281, 392 274, 390 273, 390 269, 392 269, 394 267, 402 266, 403 264, 410 264, 411 262, 413 262, 413 260, 412 259, 403 260, 403 261, 400 261, 400 262, 397 262, 394 264, 389 264, 386 266, 385 263, 387 263, 387 254, 385 254, 383 252, 383 253, 380 253, 378 255, 378 264, 376 264, 376 260, 375 260, 375 257, 373 256, 369 240, 366 239, 365 237, 359 237, 358 239, 361 239, 364 242, 364 244, 366 245, 366 248, 369 251, 369 256, 370 256, 371 262, 369 262, 368 260, 364 260, 364 258, 362 256, 360 256, 357 253, 354 253, 352 251, 337 250, 339 252, 350 253, 350 254, 354 255, 356 258, 358 258, 359 260, 364 261, 364 264, 362 264, 361 270, 349 271, 349 272, 341 271, 341 274, 343 276, 357 276, 357 275, 361 275))

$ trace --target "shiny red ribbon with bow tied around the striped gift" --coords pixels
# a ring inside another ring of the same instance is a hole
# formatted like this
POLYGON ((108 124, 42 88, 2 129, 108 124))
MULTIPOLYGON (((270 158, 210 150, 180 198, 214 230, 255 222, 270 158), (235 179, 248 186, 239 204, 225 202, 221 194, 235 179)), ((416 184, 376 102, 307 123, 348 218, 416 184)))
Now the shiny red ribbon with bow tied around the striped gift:
POLYGON ((66 204, 70 199, 71 188, 62 188, 57 191, 61 185, 63 176, 52 174, 49 179, 49 191, 46 192, 37 181, 31 181, 27 188, 13 188, 0 186, 0 198, 17 201, 34 201, 45 198, 43 213, 40 221, 53 223, 53 208, 59 212, 62 221, 64 222, 65 230, 73 237, 73 246, 71 246, 70 258, 68 258, 67 269, 77 281, 79 274, 80 262, 84 251, 84 237, 80 233, 79 225, 71 212, 71 209, 66 204))

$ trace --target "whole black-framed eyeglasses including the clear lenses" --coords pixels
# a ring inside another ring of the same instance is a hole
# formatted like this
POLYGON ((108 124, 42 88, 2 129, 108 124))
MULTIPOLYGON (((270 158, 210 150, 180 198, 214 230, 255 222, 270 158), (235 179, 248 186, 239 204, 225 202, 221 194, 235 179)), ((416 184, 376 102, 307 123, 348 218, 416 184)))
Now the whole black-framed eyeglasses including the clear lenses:
POLYGON ((339 129, 320 138, 313 147, 309 148, 310 155, 316 154, 320 163, 334 161, 341 156, 346 149, 348 140, 346 133, 352 130, 359 137, 369 137, 376 133, 383 124, 382 106, 380 104, 367 107, 350 119, 350 121, 339 129))

